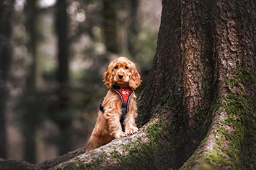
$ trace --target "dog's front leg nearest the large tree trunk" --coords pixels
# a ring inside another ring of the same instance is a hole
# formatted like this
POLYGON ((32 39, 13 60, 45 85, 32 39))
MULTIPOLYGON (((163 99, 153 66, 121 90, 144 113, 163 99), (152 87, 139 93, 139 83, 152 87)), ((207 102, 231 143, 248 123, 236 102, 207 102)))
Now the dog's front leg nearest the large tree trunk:
POLYGON ((129 111, 126 115, 126 118, 124 120, 124 130, 127 134, 134 134, 137 133, 138 128, 135 124, 135 118, 137 117, 137 104, 136 104, 136 98, 130 99, 129 104, 129 111))

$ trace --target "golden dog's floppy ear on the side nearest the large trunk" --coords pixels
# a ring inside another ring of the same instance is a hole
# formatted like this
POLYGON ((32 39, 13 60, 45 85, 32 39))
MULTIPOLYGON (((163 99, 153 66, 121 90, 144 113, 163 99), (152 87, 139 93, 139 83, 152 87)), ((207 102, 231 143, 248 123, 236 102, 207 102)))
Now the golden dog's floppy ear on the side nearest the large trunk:
POLYGON ((130 77, 129 77, 129 87, 132 88, 132 90, 135 90, 142 80, 140 80, 140 74, 138 74, 138 71, 135 67, 134 63, 130 64, 130 77))

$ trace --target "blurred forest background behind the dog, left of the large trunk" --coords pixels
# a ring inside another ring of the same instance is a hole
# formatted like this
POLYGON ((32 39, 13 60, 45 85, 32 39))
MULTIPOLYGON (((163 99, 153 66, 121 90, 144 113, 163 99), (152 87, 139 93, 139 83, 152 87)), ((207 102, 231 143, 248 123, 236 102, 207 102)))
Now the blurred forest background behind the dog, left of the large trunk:
POLYGON ((161 0, 14 0, 0 9, 1 158, 39 163, 86 144, 114 58, 129 57, 147 79, 161 0))

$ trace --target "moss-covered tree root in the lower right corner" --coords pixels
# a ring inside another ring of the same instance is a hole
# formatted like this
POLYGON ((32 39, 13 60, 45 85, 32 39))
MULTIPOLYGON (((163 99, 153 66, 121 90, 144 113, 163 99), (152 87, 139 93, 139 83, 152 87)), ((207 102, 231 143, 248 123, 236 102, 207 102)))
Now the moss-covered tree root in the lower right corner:
POLYGON ((206 137, 180 169, 255 169, 254 149, 246 145, 247 137, 255 136, 247 134, 256 129, 252 108, 249 96, 241 94, 229 93, 215 102, 206 137))

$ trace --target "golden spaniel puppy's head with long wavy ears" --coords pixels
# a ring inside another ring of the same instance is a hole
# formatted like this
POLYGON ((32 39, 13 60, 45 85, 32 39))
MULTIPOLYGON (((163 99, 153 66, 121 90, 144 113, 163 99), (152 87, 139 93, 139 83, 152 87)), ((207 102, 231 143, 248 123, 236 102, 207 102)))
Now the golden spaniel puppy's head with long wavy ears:
POLYGON ((135 90, 142 82, 135 64, 124 56, 111 61, 103 77, 104 84, 109 89, 113 88, 113 85, 122 87, 129 85, 132 90, 135 90))

